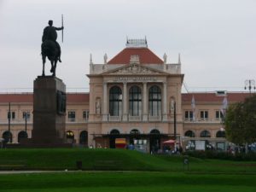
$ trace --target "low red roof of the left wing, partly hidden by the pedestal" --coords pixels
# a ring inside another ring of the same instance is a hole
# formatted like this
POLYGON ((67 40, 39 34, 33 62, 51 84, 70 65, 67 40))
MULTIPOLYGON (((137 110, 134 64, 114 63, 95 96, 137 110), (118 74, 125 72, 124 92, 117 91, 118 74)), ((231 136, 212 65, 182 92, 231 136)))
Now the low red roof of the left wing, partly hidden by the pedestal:
MULTIPOLYGON (((89 96, 89 93, 67 93, 67 102, 89 102, 89 96)), ((33 102, 33 94, 0 94, 0 102, 33 102)))

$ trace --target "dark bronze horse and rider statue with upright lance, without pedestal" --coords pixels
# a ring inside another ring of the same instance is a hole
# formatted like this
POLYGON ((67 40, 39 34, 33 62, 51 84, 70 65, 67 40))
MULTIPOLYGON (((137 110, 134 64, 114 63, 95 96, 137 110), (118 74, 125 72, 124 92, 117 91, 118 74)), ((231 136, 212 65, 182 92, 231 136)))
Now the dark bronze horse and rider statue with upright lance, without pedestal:
POLYGON ((53 26, 53 21, 49 20, 48 22, 49 26, 46 26, 44 28, 44 33, 42 37, 42 44, 41 44, 41 54, 43 59, 43 73, 42 76, 45 76, 44 74, 44 64, 46 62, 46 56, 48 57, 51 69, 50 72, 52 73, 52 76, 55 77, 55 70, 57 62, 61 62, 61 46, 58 44, 57 40, 57 32, 62 30, 62 42, 63 42, 63 16, 62 16, 62 26, 61 27, 55 27, 53 26))

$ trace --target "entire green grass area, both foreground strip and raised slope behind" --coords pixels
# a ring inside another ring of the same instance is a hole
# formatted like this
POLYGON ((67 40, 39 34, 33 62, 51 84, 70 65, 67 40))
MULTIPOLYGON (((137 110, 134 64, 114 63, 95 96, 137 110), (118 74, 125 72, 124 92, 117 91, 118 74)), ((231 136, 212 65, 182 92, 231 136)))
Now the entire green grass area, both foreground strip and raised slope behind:
POLYGON ((182 155, 84 148, 2 149, 0 157, 2 170, 63 171, 0 174, 1 192, 256 191, 254 161, 189 158, 189 167, 183 169, 182 155), (77 170, 78 160, 85 171, 64 172, 77 170))

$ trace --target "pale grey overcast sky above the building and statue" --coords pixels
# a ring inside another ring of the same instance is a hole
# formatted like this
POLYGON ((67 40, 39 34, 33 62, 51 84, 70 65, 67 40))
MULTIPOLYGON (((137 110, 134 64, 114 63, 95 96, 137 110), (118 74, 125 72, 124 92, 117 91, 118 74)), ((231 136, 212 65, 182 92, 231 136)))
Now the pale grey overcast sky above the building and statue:
POLYGON ((256 79, 255 10, 255 0, 0 0, 0 91, 32 91, 42 74, 44 27, 48 20, 61 26, 61 14, 56 76, 67 91, 89 91, 90 53, 102 64, 126 37, 145 36, 168 63, 181 54, 189 91, 243 91, 246 79, 256 79))

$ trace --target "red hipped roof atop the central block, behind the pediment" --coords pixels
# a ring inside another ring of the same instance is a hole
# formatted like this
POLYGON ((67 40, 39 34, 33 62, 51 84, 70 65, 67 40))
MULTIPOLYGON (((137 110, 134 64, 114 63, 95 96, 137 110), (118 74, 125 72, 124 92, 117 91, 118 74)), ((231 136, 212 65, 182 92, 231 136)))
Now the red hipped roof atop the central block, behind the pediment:
POLYGON ((108 61, 108 64, 130 64, 131 55, 138 55, 141 64, 163 64, 157 55, 148 48, 125 48, 113 59, 108 61))

